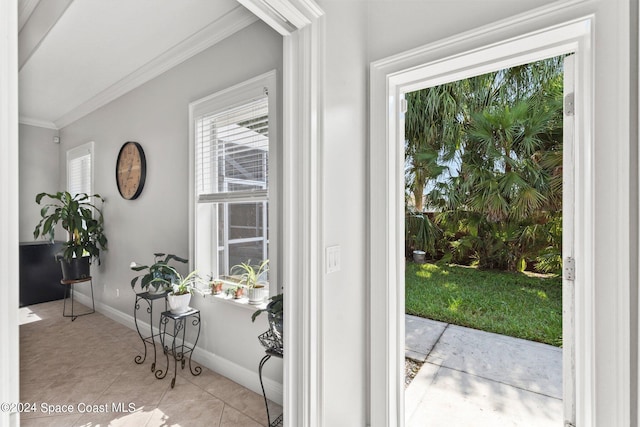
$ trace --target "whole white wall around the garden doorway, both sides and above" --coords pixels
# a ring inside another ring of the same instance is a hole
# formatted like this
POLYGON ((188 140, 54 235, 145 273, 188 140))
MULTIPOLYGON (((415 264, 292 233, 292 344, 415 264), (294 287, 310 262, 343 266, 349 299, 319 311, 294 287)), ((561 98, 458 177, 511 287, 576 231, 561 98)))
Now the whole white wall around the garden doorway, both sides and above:
MULTIPOLYGON (((364 297, 367 268, 367 88, 372 61, 436 42, 551 1, 319 1, 326 12, 325 123, 323 155, 323 243, 342 247, 342 270, 323 281, 323 425, 362 426, 367 422, 367 322, 364 297), (348 378, 348 381, 345 381, 348 378)), ((630 366, 628 272, 637 264, 629 253, 637 246, 637 218, 631 205, 629 110, 620 108, 629 94, 629 0, 574 2, 575 18, 596 14, 595 230, 597 264, 596 336, 598 352, 594 397, 595 425, 624 419, 635 388, 630 366), (631 224, 631 226, 629 225, 631 224), (626 332, 620 331, 625 326, 626 332), (621 371, 612 373, 616 366, 621 371), (625 371, 626 370, 626 371, 625 371), (632 378, 625 377, 631 373, 632 378), (621 394, 622 392, 622 394, 621 394), (622 399, 619 399, 621 398, 622 399), (622 416, 620 414, 622 413, 622 416)), ((443 51, 446 54, 446 50, 443 51)), ((634 53, 635 55, 635 53, 634 53)), ((637 56, 637 55, 636 55, 637 56)), ((637 57, 636 57, 637 60, 637 57)), ((633 77, 634 79, 637 76, 633 77)), ((628 105, 628 103, 627 103, 628 105)), ((376 250, 376 248, 371 248, 376 250)), ((632 252, 633 253, 633 252, 632 252)), ((631 302, 637 311, 637 303, 631 302)))

